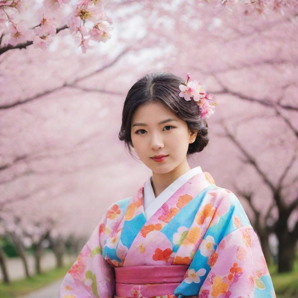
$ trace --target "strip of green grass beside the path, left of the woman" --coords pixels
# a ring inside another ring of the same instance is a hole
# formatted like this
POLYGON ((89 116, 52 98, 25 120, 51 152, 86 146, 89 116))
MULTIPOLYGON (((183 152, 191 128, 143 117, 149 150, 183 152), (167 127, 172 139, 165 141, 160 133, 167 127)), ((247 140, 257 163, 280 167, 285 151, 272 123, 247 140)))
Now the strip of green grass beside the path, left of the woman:
POLYGON ((8 285, 0 283, 0 298, 15 298, 43 288, 63 278, 71 266, 72 264, 68 264, 30 278, 13 280, 8 285))

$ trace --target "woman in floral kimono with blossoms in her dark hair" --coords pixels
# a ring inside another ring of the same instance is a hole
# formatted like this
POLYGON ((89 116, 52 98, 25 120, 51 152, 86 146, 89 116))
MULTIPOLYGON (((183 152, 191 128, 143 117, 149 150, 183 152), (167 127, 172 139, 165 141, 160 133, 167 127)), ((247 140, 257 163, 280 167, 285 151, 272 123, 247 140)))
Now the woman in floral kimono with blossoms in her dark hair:
POLYGON ((208 144, 205 118, 216 105, 189 79, 151 73, 128 91, 119 139, 152 176, 108 208, 60 298, 275 297, 238 198, 187 162, 208 144))

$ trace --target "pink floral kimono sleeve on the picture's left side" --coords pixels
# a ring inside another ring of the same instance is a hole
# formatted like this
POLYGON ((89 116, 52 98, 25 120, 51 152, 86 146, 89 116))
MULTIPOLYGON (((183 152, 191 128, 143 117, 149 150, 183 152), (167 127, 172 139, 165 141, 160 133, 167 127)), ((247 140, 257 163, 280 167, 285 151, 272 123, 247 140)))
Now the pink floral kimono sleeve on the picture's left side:
POLYGON ((114 268, 102 255, 103 236, 100 229, 106 217, 94 229, 77 260, 65 275, 59 289, 59 298, 112 298, 115 289, 114 268))

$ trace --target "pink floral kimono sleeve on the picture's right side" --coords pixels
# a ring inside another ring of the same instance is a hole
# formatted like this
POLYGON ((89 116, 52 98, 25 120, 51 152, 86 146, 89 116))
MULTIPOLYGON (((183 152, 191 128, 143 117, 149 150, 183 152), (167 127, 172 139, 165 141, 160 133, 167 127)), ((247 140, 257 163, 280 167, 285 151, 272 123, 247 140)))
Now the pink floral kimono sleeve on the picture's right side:
POLYGON ((276 297, 260 242, 251 225, 226 235, 208 264, 211 269, 200 288, 200 298, 276 297))

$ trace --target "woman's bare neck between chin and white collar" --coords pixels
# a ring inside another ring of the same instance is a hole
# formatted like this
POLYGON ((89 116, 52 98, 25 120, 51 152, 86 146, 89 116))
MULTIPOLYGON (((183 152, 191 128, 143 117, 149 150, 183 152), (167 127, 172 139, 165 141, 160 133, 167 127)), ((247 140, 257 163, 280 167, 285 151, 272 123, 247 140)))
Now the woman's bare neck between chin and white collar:
POLYGON ((160 174, 152 171, 151 184, 155 197, 159 196, 170 184, 190 169, 191 167, 185 157, 185 160, 181 164, 168 173, 160 174))

